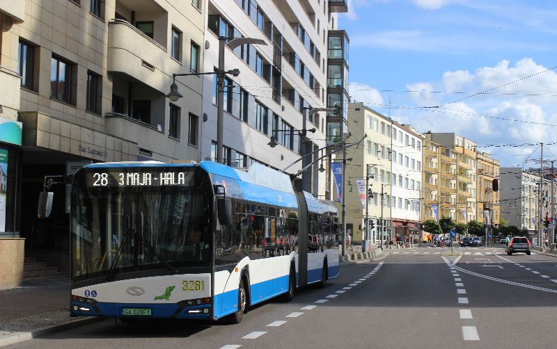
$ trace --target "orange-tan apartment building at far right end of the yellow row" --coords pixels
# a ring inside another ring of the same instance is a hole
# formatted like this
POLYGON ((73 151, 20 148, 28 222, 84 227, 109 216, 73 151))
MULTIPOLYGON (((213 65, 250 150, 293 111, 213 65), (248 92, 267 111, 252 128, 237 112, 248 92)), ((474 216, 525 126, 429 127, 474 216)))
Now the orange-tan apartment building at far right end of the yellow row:
POLYGON ((478 152, 476 161, 478 165, 476 218, 478 222, 485 222, 485 211, 489 211, 490 224, 498 226, 501 218, 500 194, 499 190, 493 190, 493 181, 497 179, 499 184, 499 160, 493 159, 488 153, 478 152))

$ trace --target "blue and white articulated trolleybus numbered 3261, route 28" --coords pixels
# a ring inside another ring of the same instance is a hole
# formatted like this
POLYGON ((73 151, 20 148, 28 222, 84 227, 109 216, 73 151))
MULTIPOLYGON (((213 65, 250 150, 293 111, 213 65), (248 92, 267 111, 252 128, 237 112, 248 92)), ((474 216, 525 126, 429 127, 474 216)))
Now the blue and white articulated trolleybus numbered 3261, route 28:
POLYGON ((68 185, 74 316, 238 323, 338 275, 334 204, 265 166, 95 163, 68 185))

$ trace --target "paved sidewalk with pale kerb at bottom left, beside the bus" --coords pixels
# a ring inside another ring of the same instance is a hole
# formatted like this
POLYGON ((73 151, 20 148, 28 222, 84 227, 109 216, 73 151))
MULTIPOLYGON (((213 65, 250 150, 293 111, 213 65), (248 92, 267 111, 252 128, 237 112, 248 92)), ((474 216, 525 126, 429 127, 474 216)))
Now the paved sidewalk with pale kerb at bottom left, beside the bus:
POLYGON ((0 347, 78 325, 70 318, 70 279, 56 277, 0 291, 0 347))

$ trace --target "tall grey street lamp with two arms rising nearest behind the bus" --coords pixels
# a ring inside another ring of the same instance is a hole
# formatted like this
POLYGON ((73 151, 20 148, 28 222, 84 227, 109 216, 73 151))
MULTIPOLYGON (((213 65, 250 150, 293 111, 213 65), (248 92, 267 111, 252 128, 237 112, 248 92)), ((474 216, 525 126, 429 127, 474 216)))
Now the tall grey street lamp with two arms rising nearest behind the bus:
POLYGON ((267 42, 262 39, 255 39, 255 38, 228 38, 226 36, 219 36, 219 68, 217 72, 209 72, 209 73, 199 73, 199 74, 172 74, 173 83, 170 87, 170 92, 166 97, 170 99, 172 102, 178 101, 182 97, 180 92, 178 92, 178 85, 176 85, 175 77, 176 76, 188 76, 188 75, 207 75, 207 74, 217 74, 217 163, 223 162, 223 115, 224 115, 224 76, 225 74, 232 74, 233 76, 240 75, 240 70, 233 69, 224 71, 224 47, 228 46, 229 49, 233 50, 236 47, 239 47, 244 44, 260 44, 260 45, 267 45, 267 42), (226 43, 228 41, 228 44, 226 43))

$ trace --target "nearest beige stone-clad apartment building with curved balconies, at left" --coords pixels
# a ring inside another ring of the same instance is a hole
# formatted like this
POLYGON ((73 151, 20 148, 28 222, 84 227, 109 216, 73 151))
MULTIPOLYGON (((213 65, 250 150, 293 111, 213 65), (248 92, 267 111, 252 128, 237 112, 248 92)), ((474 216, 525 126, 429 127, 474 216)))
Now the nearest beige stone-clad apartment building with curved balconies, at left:
POLYGON ((177 102, 166 94, 173 74, 204 69, 205 1, 22 0, 0 8, 1 64, 10 70, 0 72, 0 88, 19 96, 1 93, 10 101, 0 103, 22 124, 21 161, 8 169, 19 166, 18 196, 29 198, 14 207, 17 235, 34 256, 68 268, 59 263, 70 243, 63 186, 53 187, 52 217, 36 220, 45 175, 65 175, 68 162, 201 159, 203 79, 176 79, 184 96, 177 102))

